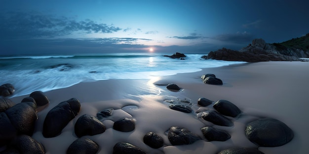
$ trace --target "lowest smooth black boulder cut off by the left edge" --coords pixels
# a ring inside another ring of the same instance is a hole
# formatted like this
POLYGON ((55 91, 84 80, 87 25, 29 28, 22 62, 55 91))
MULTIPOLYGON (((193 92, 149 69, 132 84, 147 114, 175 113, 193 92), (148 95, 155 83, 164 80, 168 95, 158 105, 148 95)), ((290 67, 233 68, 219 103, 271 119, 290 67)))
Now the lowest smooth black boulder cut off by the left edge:
POLYGON ((4 112, 0 112, 0 147, 9 143, 18 131, 4 112))

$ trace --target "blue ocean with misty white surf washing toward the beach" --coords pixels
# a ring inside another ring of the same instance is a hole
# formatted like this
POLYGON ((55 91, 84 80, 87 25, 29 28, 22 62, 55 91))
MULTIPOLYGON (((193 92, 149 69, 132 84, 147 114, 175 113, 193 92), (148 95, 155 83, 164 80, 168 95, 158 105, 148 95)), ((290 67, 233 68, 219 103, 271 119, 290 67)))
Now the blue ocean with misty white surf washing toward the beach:
POLYGON ((204 54, 185 54, 185 60, 163 53, 112 53, 0 57, 0 85, 15 87, 13 96, 47 92, 80 82, 109 79, 151 79, 244 62, 201 59, 204 54))

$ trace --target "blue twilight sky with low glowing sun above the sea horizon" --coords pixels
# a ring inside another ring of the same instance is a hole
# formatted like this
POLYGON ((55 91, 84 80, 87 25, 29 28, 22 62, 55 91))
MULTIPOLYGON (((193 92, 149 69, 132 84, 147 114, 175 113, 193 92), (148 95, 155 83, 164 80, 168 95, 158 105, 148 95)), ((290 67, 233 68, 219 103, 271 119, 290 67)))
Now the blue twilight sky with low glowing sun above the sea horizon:
POLYGON ((0 55, 239 50, 309 33, 309 0, 0 0, 0 55))

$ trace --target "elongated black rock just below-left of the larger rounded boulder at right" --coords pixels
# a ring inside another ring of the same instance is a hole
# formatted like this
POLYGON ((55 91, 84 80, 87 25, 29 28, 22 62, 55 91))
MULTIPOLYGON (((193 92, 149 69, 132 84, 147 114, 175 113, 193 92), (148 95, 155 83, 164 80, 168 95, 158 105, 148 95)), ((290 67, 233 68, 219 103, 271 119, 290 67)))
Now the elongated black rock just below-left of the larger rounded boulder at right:
POLYGON ((222 126, 232 126, 233 123, 228 118, 220 115, 217 111, 209 110, 202 113, 201 116, 205 121, 222 125, 222 126))

